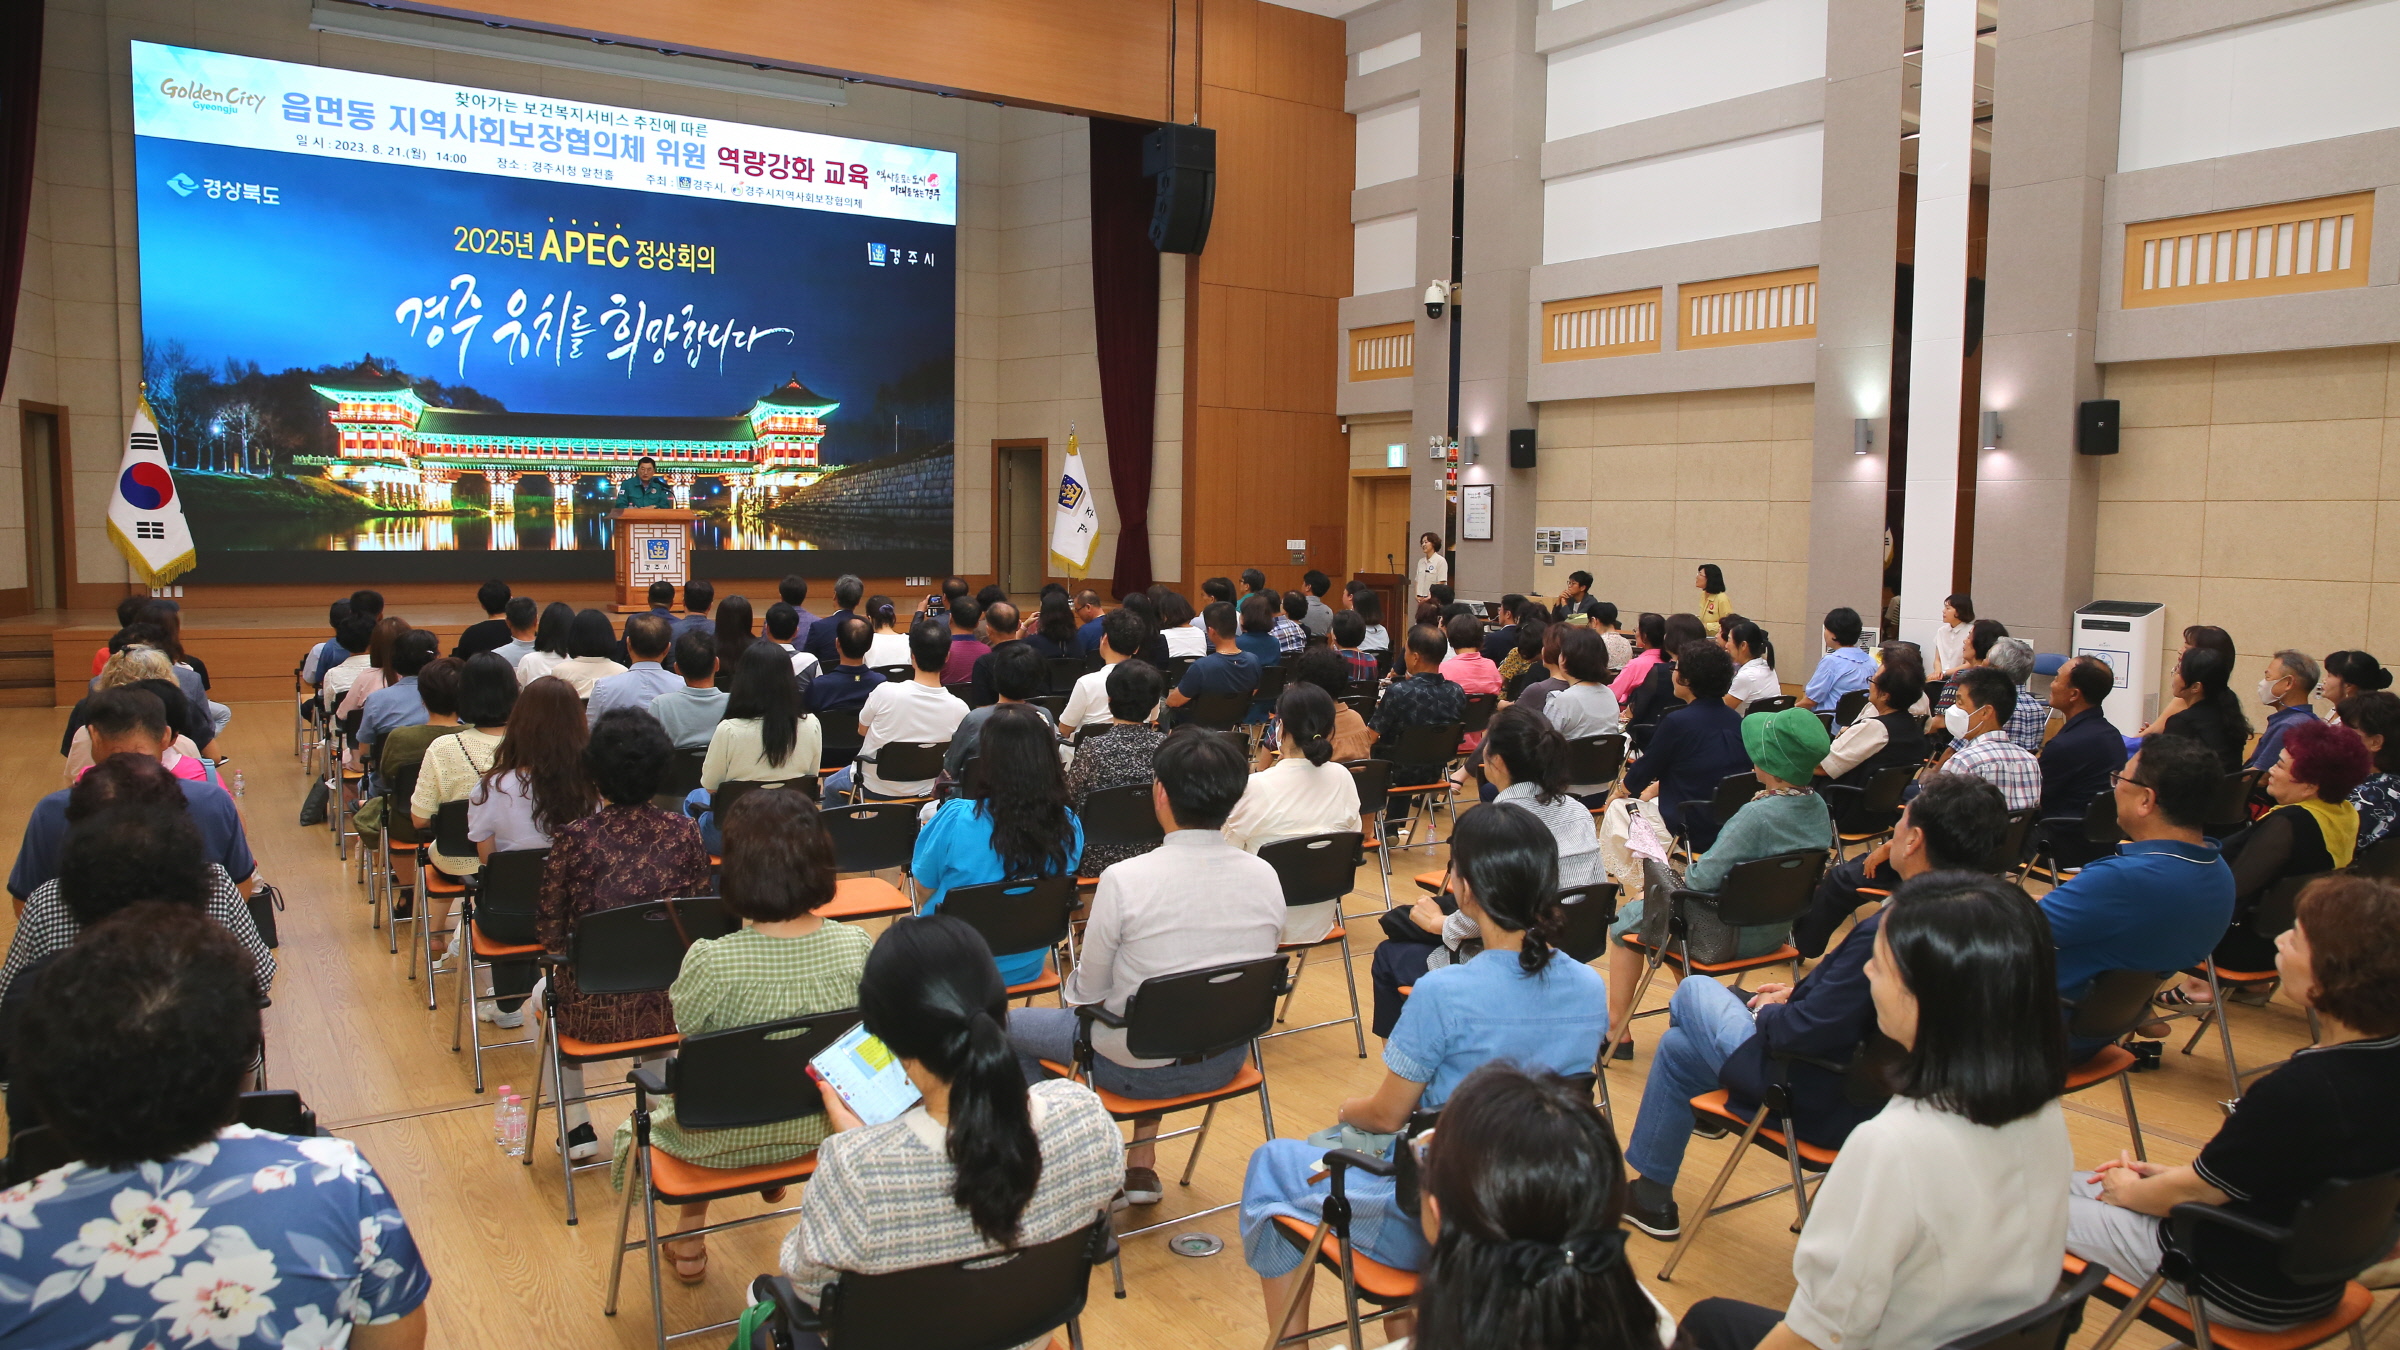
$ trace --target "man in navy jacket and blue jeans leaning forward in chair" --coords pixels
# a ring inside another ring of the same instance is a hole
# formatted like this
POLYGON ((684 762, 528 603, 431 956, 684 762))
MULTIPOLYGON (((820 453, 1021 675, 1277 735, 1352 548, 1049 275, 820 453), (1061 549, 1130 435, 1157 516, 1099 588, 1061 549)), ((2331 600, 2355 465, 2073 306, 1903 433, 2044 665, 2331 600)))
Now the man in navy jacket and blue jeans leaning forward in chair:
MULTIPOLYGON (((2006 826, 1999 790, 1982 778, 1927 778, 1925 790, 1901 810, 1884 848, 1894 889, 1927 872, 1980 870, 2006 826)), ((1889 1043, 1879 1043, 1867 987, 1867 958, 1882 920, 1884 910, 1858 920, 1834 956, 1798 985, 1766 982, 1747 999, 1706 975, 1675 985, 1668 1031, 1658 1038, 1642 1088, 1642 1115, 1625 1146, 1625 1165, 1634 1172, 1625 1218, 1634 1227, 1661 1242, 1682 1235, 1675 1177, 1694 1129, 1685 1103, 1702 1093, 1726 1088, 1726 1107, 1752 1117, 1766 1093, 1783 1083, 1800 1139, 1819 1148, 1841 1148, 1853 1129, 1882 1110, 1882 1095, 1858 1093, 1850 1081, 1853 1064, 1872 1064, 1889 1052, 1889 1043)))

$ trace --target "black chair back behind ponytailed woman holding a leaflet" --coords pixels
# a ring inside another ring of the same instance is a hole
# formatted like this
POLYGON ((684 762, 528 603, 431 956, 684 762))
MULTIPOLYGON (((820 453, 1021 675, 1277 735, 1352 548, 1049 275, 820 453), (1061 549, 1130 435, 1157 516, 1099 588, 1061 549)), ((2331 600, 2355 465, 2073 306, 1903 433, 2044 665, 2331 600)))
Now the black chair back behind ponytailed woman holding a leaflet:
MULTIPOLYGON (((787 1326, 823 1326, 845 1350, 1006 1350, 1082 1316, 1092 1266, 1109 1259, 1109 1215, 1066 1237, 941 1266, 881 1276, 845 1273, 806 1309, 792 1283, 763 1276, 751 1300, 775 1302, 787 1326), (974 1309, 960 1316, 960 1309, 974 1309)), ((746 1348, 744 1348, 746 1350, 746 1348)))

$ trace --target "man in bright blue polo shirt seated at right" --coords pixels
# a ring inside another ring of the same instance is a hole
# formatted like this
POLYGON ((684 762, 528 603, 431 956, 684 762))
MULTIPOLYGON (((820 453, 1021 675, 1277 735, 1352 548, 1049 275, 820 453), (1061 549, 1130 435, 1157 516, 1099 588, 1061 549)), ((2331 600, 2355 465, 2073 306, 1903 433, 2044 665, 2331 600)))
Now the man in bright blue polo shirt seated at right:
MULTIPOLYGON (((2107 970, 2182 970, 2225 937, 2234 872, 2201 836, 2225 766, 2189 735, 2153 735, 2114 773, 2117 829, 2126 843, 2054 886, 2038 903, 2059 946, 2059 997, 2081 999, 2107 970)), ((2069 1040, 2081 1064, 2105 1040, 2069 1040)))

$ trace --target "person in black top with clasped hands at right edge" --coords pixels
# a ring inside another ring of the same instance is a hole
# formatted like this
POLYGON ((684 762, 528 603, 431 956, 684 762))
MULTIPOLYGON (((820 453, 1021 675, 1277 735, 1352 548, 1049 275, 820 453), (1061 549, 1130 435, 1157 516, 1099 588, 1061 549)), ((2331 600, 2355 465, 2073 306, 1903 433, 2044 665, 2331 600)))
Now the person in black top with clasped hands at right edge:
MULTIPOLYGON (((2182 1167, 2119 1153, 2066 1177, 2066 1249, 2143 1285, 2165 1259, 2162 1218, 2179 1203, 2222 1206, 2287 1225, 2318 1187, 2400 1167, 2400 886, 2326 877, 2299 894, 2275 939, 2282 990, 2321 1023, 2316 1045, 2254 1081, 2201 1155, 2182 1167)), ((2340 1283, 2297 1283, 2270 1244, 2203 1223, 2186 1252, 2208 1324, 2285 1331, 2330 1314, 2340 1283)), ((2184 1307, 2167 1283, 2160 1297, 2184 1307)))

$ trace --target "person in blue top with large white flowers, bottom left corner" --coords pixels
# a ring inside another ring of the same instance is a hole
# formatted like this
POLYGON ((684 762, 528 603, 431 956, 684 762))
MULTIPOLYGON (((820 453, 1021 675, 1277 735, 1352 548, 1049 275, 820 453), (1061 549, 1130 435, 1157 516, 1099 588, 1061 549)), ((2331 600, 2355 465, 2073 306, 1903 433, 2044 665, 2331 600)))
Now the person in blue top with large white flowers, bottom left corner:
POLYGON ((262 1033, 223 927, 132 906, 19 1016, 19 1100, 84 1160, 0 1191, 0 1345, 425 1345, 432 1278, 374 1167, 233 1124, 262 1033))

